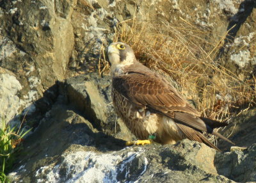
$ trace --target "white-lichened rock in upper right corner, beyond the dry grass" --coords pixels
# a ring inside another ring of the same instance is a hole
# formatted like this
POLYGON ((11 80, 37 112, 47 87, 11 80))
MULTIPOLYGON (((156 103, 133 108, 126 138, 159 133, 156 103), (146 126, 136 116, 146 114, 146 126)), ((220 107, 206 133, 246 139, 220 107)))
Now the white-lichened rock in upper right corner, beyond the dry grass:
POLYGON ((256 2, 243 1, 239 4, 236 13, 230 17, 227 30, 230 30, 225 38, 225 44, 220 51, 220 61, 232 72, 239 74, 242 80, 255 75, 256 57, 256 2))

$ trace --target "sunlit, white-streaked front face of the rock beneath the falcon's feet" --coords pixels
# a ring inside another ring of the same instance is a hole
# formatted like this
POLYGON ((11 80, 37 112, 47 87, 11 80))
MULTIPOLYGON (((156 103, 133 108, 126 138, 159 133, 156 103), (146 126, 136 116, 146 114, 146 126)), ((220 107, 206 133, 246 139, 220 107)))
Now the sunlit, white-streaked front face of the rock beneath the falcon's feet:
MULTIPOLYGON (((208 147, 201 147, 197 143, 191 143, 191 146, 196 148, 185 156, 179 154, 180 148, 184 148, 182 143, 177 147, 152 145, 125 148, 118 152, 104 154, 95 148, 72 145, 63 152, 61 157, 54 157, 53 161, 52 159, 47 161, 45 158, 44 166, 36 174, 23 177, 21 180, 30 179, 35 182, 47 180, 49 182, 232 182, 212 173, 211 170, 202 169, 202 166, 198 164, 198 159, 194 157, 198 153, 207 152, 208 147), (179 158, 179 163, 172 165, 177 158, 179 158), (186 163, 185 159, 191 162, 186 163)), ((214 157, 214 153, 211 157, 214 157)), ((212 159, 209 160, 205 161, 206 167, 204 168, 207 168, 207 163, 212 163, 212 159)), ((26 166, 20 168, 20 172, 24 170, 26 166)), ((21 175, 15 174, 15 181, 19 181, 17 178, 21 175)))

